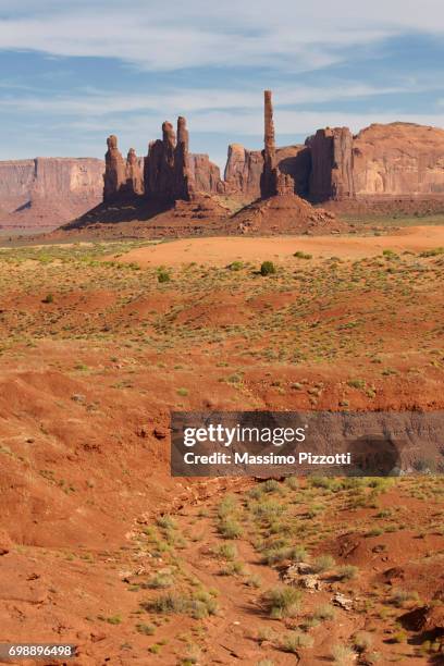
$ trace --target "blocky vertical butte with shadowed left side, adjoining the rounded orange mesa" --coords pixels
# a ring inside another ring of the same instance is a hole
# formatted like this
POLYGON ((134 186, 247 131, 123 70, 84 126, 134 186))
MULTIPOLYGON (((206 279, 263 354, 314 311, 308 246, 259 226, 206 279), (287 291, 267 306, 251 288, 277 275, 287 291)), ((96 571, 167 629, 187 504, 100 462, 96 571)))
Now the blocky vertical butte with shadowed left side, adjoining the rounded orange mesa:
POLYGON ((309 198, 347 199, 355 195, 353 135, 348 127, 318 130, 307 139, 311 156, 309 198))

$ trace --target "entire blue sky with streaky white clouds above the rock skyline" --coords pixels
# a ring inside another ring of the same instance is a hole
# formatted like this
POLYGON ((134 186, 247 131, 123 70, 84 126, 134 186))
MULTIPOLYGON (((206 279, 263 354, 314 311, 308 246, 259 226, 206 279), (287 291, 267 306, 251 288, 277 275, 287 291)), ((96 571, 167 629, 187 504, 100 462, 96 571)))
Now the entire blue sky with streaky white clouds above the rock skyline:
POLYGON ((223 164, 318 127, 444 126, 442 0, 0 0, 0 159, 145 155, 163 120, 223 164), (309 5, 309 7, 307 7, 309 5))

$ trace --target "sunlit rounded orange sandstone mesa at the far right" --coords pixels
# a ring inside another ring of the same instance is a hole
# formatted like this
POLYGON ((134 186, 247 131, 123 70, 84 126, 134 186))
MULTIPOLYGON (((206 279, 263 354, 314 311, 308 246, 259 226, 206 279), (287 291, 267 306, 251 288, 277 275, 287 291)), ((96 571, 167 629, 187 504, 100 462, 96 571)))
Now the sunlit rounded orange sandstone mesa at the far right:
POLYGON ((357 196, 444 196, 444 130, 373 124, 354 140, 357 196))

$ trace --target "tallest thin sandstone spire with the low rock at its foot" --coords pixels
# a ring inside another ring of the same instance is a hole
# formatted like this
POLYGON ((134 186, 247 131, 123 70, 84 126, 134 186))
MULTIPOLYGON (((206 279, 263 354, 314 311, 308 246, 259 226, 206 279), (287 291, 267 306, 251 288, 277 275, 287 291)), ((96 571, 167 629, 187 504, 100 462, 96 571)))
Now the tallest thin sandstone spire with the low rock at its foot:
POLYGON ((263 100, 264 147, 262 151, 263 168, 260 178, 260 196, 262 199, 268 199, 276 195, 294 194, 295 182, 289 173, 281 172, 278 164, 271 90, 264 91, 263 100))

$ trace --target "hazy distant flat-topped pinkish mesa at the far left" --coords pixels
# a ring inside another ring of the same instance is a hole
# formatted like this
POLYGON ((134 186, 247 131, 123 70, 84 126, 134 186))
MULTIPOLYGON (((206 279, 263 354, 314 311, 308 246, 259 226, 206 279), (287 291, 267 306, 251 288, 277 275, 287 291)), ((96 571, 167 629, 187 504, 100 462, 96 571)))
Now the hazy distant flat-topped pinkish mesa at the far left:
POLYGON ((54 226, 100 202, 103 161, 36 158, 0 162, 0 224, 54 226))

